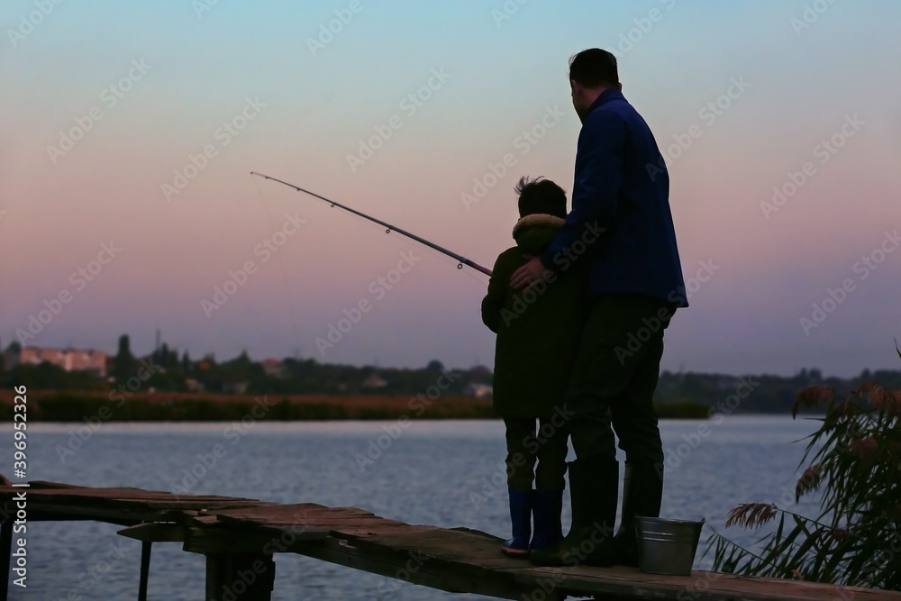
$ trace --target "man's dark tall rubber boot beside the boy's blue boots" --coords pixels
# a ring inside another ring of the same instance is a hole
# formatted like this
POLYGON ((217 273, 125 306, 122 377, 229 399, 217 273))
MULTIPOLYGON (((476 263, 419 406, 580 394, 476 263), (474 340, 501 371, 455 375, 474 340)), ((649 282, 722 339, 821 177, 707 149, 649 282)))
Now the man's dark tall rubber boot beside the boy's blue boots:
POLYGON ((572 526, 556 545, 532 551, 538 566, 610 565, 598 555, 600 545, 614 534, 619 464, 605 457, 569 463, 572 526))

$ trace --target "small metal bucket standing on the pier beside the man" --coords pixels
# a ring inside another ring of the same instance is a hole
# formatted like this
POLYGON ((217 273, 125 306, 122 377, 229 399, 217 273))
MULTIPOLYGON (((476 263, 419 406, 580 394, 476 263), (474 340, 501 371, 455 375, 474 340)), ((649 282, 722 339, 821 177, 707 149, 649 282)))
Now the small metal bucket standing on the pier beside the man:
POLYGON ((690 576, 695 562, 700 522, 637 517, 638 568, 647 574, 690 576))

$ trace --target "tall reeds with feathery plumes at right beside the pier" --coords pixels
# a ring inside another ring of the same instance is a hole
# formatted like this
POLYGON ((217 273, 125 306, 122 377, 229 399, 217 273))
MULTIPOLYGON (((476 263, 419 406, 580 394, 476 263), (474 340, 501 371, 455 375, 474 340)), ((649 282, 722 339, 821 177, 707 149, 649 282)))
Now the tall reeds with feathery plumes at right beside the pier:
POLYGON ((775 529, 754 549, 714 532, 705 553, 713 551, 714 569, 728 573, 901 590, 901 390, 868 382, 841 398, 830 387, 807 387, 792 418, 823 407, 795 489, 796 502, 822 491, 817 517, 739 505, 727 528, 775 529))

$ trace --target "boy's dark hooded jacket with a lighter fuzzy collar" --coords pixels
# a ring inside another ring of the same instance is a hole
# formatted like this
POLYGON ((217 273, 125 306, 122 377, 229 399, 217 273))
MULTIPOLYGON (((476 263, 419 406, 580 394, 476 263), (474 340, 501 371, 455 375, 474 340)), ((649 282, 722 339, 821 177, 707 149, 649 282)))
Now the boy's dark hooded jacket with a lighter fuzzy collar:
POLYGON ((587 315, 587 261, 524 294, 510 287, 523 253, 541 254, 562 224, 547 214, 520 219, 516 246, 497 257, 482 300, 482 321, 497 334, 494 409, 503 417, 551 417, 563 405, 587 315))

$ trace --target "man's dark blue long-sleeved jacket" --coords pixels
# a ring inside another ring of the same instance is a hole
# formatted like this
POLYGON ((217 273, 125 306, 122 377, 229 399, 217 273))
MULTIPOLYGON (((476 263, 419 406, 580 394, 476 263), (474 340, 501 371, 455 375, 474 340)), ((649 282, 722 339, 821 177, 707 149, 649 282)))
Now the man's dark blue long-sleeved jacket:
POLYGON ((593 295, 655 296, 688 306, 669 173, 648 123, 615 88, 588 108, 578 134, 572 210, 542 253, 555 272, 578 259, 590 262, 593 295))

